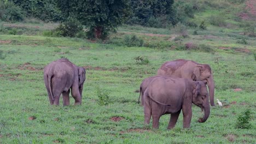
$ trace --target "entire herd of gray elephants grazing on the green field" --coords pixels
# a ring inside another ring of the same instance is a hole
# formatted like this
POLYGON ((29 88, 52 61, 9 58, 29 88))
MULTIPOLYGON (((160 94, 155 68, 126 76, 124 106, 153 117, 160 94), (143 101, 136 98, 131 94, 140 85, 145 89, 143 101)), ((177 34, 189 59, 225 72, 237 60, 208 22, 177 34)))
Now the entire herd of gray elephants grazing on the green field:
MULTIPOLYGON (((85 69, 77 67, 66 58, 51 62, 44 68, 44 83, 51 105, 69 105, 71 89, 75 105, 82 102, 85 69)), ((171 114, 168 129, 175 126, 179 113, 183 113, 183 128, 189 128, 192 104, 201 107, 205 122, 210 115, 210 103, 214 106, 214 81, 210 65, 177 59, 161 65, 156 76, 144 79, 139 88, 139 98, 144 106, 144 123, 153 119, 153 128, 158 129, 162 115, 171 114), (207 87, 210 96, 207 91, 207 87)), ((139 100, 138 100, 139 103, 139 100)))

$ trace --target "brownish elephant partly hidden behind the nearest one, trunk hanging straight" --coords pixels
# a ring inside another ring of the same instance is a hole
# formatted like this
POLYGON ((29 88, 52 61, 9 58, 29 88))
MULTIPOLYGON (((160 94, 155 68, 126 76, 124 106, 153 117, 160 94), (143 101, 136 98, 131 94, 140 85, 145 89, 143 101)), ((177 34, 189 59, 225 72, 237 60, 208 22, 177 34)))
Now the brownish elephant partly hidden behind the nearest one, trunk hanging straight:
POLYGON ((209 88, 210 103, 211 106, 214 104, 214 80, 210 65, 199 64, 194 61, 185 59, 177 59, 175 61, 168 61, 161 65, 158 69, 158 75, 171 75, 194 81, 205 81, 209 88))

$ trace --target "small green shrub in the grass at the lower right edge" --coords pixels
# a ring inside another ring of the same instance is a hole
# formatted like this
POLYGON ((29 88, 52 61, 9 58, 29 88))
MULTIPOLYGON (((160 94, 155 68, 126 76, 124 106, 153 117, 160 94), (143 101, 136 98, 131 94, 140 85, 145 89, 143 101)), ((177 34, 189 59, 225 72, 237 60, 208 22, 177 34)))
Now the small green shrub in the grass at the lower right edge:
POLYGON ((251 110, 246 110, 240 116, 237 117, 236 128, 237 129, 250 129, 252 124, 249 121, 252 119, 251 110))

